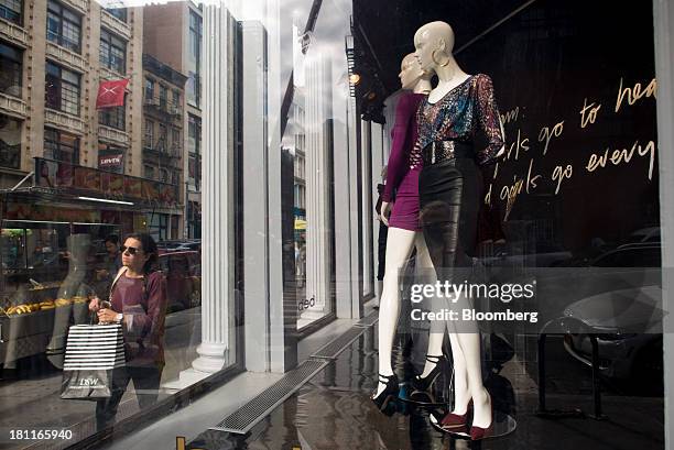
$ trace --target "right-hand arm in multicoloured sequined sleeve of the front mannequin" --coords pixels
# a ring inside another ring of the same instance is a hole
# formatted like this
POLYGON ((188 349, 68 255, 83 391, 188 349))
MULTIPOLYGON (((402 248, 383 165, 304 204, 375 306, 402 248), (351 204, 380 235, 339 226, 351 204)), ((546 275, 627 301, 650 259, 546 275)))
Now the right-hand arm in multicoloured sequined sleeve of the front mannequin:
POLYGON ((506 134, 493 95, 491 78, 479 75, 477 80, 477 106, 480 128, 487 135, 487 147, 478 151, 478 164, 496 163, 506 150, 506 134))

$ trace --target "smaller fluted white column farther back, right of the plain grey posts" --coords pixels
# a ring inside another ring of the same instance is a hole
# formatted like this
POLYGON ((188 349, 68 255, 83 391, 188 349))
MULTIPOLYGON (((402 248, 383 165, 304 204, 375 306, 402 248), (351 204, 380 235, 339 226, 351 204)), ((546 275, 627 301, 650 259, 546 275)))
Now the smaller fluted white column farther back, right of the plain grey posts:
POLYGON ((306 297, 315 305, 303 318, 326 311, 330 288, 328 157, 331 152, 330 61, 314 52, 306 62, 306 297))

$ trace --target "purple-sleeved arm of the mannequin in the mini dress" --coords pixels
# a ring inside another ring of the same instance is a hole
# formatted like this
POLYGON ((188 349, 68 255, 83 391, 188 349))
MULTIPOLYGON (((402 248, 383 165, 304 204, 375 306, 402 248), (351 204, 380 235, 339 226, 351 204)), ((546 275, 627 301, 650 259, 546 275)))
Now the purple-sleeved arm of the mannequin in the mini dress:
POLYGON ((407 157, 405 155, 405 141, 410 132, 410 122, 414 118, 416 110, 412 108, 411 96, 401 97, 395 107, 395 123, 393 124, 393 143, 391 144, 391 156, 389 156, 387 184, 381 196, 383 201, 390 202, 393 189, 395 189, 403 175, 407 157))

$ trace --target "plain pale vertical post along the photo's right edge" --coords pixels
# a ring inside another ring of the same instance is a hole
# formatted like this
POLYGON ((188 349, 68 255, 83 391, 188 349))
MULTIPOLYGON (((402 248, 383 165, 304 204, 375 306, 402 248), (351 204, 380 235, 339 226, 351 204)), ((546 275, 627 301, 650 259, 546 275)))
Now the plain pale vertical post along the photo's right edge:
POLYGON ((660 223, 662 228, 662 267, 663 267, 663 347, 664 347, 664 421, 665 449, 674 449, 672 438, 672 415, 674 414, 674 334, 672 323, 672 292, 674 281, 667 276, 674 267, 674 207, 672 184, 674 184, 674 6, 668 0, 653 0, 655 29, 655 77, 657 78, 657 155, 660 166, 660 223), (670 312, 670 314, 667 314, 670 312))

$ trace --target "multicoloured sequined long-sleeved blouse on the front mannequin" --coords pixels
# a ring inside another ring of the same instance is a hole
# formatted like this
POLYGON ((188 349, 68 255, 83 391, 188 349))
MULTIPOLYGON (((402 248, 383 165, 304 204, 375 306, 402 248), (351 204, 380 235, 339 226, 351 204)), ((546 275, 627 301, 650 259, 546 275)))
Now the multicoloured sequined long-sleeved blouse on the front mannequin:
POLYGON ((486 165, 496 162, 496 155, 504 144, 493 85, 488 75, 470 76, 435 103, 423 101, 416 114, 417 149, 424 149, 434 141, 472 143, 476 133, 481 130, 488 144, 483 149, 476 149, 475 156, 479 165, 486 165))

